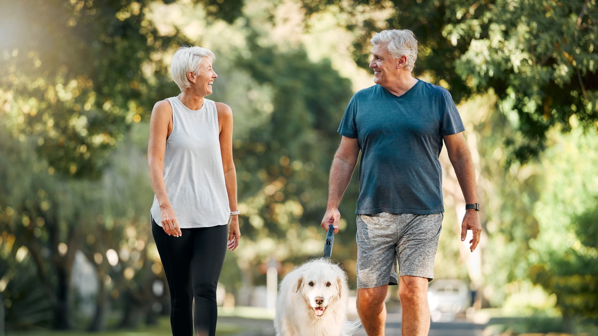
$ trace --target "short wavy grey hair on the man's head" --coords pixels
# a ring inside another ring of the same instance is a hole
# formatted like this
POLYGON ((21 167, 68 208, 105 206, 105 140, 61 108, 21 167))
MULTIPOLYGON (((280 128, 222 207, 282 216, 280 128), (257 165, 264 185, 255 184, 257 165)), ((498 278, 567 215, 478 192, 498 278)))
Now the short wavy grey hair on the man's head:
POLYGON ((417 39, 409 29, 389 29, 375 33, 370 39, 372 45, 386 44, 386 50, 393 59, 407 56, 405 70, 413 71, 417 59, 417 39))

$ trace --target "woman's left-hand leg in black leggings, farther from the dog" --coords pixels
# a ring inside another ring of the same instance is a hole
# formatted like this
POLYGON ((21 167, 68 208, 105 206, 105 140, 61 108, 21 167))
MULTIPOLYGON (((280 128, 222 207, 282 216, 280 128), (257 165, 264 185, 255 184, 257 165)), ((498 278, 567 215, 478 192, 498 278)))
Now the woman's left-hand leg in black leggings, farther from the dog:
POLYGON ((193 320, 191 317, 193 229, 182 228, 181 237, 169 236, 152 219, 151 230, 170 289, 170 328, 172 329, 172 335, 193 335, 193 320))

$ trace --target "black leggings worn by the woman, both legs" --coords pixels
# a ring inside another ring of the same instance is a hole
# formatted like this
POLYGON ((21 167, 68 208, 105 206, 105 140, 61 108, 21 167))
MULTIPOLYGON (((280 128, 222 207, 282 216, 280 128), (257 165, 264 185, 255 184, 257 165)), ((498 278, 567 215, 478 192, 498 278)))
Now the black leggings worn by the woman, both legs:
POLYGON ((227 225, 182 228, 181 237, 175 237, 166 234, 152 219, 151 230, 170 289, 172 335, 193 335, 193 321, 195 335, 215 335, 216 285, 226 252, 227 225))

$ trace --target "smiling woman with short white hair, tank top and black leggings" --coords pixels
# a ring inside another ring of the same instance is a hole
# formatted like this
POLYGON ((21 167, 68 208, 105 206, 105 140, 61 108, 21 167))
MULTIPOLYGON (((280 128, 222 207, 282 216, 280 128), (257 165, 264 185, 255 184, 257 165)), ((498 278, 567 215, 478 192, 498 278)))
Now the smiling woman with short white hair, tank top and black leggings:
POLYGON ((150 122, 152 234, 170 289, 176 336, 193 334, 193 322, 196 335, 215 335, 216 284, 226 247, 239 246, 233 112, 205 98, 218 78, 214 59, 206 48, 179 48, 170 74, 181 94, 157 102, 150 122))

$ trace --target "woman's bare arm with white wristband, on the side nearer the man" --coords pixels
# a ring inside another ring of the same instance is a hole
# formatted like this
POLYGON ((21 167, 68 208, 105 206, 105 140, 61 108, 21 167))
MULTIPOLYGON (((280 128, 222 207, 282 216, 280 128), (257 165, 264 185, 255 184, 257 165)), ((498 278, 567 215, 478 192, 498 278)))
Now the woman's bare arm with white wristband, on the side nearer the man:
MULTIPOLYGON (((228 194, 228 206, 231 211, 237 210, 237 172, 233 162, 233 111, 225 103, 216 103, 218 126, 220 128, 220 153, 222 169, 228 194)), ((232 215, 228 227, 228 249, 234 251, 239 246, 239 215, 232 215)))

